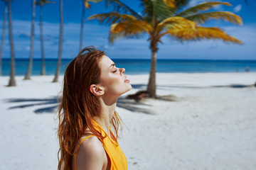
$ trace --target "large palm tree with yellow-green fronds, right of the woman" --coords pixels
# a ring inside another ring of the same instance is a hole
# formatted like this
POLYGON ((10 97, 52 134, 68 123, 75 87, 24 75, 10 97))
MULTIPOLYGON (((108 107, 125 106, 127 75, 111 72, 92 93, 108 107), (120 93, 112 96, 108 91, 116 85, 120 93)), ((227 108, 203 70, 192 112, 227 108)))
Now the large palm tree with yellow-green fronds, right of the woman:
POLYGON ((110 24, 110 42, 115 38, 139 38, 139 35, 149 35, 151 50, 151 70, 146 92, 149 97, 156 98, 156 52, 158 44, 164 35, 170 35, 177 40, 220 39, 225 42, 242 43, 216 27, 203 27, 199 24, 209 19, 223 19, 242 25, 240 16, 228 11, 207 11, 217 5, 231 6, 227 2, 203 2, 183 11, 189 0, 141 0, 143 13, 139 14, 119 0, 108 0, 116 9, 110 13, 100 13, 90 16, 100 23, 110 24))

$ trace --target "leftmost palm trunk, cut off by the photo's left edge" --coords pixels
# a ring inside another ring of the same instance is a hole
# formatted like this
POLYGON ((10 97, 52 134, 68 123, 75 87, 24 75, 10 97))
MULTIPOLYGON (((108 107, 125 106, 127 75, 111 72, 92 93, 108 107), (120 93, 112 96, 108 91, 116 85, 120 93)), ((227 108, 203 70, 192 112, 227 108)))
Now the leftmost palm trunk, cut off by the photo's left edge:
POLYGON ((1 60, 4 52, 4 38, 6 34, 6 19, 7 19, 7 13, 8 13, 8 6, 7 6, 8 0, 2 0, 2 1, 4 1, 4 21, 3 21, 3 32, 1 37, 1 48, 0 48, 0 76, 1 76, 1 60))

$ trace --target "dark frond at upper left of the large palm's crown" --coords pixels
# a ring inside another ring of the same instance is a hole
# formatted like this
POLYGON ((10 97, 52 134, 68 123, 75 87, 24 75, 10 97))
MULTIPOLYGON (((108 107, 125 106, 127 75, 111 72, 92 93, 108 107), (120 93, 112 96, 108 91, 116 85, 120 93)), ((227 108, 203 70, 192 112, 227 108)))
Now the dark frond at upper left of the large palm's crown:
POLYGON ((107 6, 113 6, 114 11, 121 12, 121 13, 128 13, 132 16, 135 16, 137 19, 142 20, 142 16, 139 15, 136 11, 134 11, 132 8, 127 6, 126 4, 122 3, 122 1, 119 0, 105 0, 107 6))

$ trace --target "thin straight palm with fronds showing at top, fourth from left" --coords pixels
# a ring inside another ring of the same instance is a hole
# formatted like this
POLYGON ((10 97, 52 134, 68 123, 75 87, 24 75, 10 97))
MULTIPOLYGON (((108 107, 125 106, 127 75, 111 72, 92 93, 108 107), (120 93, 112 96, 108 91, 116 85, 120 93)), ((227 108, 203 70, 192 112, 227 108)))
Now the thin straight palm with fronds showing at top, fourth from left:
POLYGON ((41 56, 42 56, 42 67, 41 67, 41 75, 46 75, 46 64, 45 64, 45 56, 43 50, 43 5, 53 3, 54 1, 47 0, 38 0, 36 1, 36 5, 40 6, 40 40, 41 40, 41 56))

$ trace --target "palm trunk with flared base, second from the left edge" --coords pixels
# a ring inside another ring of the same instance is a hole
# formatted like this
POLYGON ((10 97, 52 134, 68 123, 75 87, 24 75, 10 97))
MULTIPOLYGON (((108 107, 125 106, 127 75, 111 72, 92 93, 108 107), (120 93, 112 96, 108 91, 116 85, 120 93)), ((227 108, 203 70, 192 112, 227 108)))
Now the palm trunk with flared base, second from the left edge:
POLYGON ((14 39, 12 35, 12 26, 11 26, 11 0, 9 0, 9 41, 11 46, 11 74, 9 79, 8 86, 16 86, 15 81, 15 60, 14 60, 14 39))

